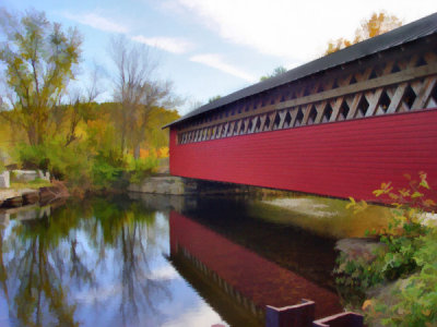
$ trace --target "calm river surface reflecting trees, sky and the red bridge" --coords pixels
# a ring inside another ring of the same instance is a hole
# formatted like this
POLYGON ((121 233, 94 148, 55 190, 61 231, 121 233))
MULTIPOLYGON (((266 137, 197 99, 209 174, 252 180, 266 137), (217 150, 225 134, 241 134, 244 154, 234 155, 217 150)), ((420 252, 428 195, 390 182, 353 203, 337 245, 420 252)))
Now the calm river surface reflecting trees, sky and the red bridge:
POLYGON ((0 213, 0 326, 262 326, 265 305, 302 298, 340 312, 334 240, 258 206, 135 195, 0 213))

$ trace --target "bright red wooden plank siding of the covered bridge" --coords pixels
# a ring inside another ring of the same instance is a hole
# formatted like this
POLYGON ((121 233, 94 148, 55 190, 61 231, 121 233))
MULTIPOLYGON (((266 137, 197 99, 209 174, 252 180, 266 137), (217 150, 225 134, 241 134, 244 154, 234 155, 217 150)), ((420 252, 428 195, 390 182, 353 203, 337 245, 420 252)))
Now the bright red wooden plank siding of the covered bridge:
POLYGON ((170 173, 375 201, 381 182, 428 174, 437 189, 437 109, 185 145, 170 131, 170 173))

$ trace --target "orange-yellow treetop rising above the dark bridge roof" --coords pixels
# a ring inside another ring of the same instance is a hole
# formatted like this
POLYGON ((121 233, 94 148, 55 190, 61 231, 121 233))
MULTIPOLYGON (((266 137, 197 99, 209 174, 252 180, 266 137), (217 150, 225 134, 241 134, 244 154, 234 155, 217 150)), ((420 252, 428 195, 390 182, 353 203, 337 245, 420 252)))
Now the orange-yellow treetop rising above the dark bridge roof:
POLYGON ((328 48, 323 55, 327 56, 333 53, 365 39, 387 33, 401 25, 402 22, 394 15, 389 15, 383 11, 373 13, 370 19, 362 21, 361 26, 355 31, 355 38, 353 40, 343 37, 336 40, 331 40, 328 43, 328 48))

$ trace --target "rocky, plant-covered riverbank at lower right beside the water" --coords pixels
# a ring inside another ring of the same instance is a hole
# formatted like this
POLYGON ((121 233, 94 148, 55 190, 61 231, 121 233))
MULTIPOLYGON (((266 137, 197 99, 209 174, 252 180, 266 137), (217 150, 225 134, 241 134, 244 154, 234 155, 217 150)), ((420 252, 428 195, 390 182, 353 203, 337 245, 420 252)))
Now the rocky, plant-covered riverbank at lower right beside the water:
POLYGON ((437 323, 437 228, 433 216, 418 213, 405 219, 398 214, 389 229, 375 239, 336 243, 339 293, 345 307, 363 313, 369 326, 437 323))

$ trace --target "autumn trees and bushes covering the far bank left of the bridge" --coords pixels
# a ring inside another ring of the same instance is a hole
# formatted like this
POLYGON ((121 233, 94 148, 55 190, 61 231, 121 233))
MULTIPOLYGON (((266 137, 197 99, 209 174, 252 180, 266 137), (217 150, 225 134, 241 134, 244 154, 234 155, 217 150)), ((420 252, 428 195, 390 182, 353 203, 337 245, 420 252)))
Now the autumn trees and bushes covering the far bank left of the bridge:
POLYGON ((0 9, 0 150, 8 164, 90 190, 152 172, 168 156, 162 126, 179 118, 178 101, 170 82, 153 77, 155 64, 143 48, 127 39, 113 44, 114 101, 98 104, 97 69, 78 74, 82 36, 75 28, 49 22, 44 12, 0 9), (79 77, 84 86, 74 89, 79 77))

